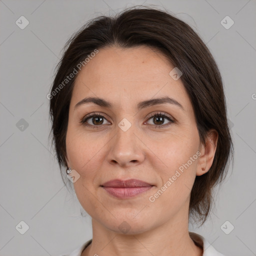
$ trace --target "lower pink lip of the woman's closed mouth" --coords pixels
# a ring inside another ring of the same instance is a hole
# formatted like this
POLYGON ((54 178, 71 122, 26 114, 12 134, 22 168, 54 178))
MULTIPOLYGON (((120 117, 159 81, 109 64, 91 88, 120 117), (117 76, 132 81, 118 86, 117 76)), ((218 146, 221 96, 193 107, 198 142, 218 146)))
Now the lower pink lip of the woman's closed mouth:
POLYGON ((152 186, 141 187, 110 187, 102 186, 108 193, 118 198, 129 198, 149 190, 152 186))

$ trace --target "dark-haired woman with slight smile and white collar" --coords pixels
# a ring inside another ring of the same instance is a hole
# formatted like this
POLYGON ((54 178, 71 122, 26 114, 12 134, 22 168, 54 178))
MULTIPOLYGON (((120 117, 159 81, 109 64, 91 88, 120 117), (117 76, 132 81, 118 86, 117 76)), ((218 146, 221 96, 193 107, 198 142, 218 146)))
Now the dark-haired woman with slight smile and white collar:
POLYGON ((72 36, 47 96, 60 169, 92 219, 69 255, 223 255, 188 231, 233 154, 219 70, 190 26, 136 7, 72 36))

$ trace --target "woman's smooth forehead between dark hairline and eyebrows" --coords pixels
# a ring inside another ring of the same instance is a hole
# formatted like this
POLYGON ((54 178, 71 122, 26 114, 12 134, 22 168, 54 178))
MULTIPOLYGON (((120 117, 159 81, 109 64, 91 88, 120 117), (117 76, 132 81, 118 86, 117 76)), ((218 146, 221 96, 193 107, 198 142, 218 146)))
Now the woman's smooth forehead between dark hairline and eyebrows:
POLYGON ((76 77, 71 104, 85 96, 126 106, 133 101, 170 96, 188 109, 191 106, 181 79, 169 75, 173 68, 163 54, 148 46, 98 49, 76 77))

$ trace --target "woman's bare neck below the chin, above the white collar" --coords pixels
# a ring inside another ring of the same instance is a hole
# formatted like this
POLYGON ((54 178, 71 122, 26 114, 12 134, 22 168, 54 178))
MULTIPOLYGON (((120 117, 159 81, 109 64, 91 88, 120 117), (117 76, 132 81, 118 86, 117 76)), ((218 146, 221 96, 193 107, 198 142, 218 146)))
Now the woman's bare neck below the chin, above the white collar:
POLYGON ((202 256, 202 249, 189 236, 188 214, 184 218, 179 213, 161 225, 143 232, 129 232, 131 234, 110 230, 92 218, 92 242, 81 256, 202 256))

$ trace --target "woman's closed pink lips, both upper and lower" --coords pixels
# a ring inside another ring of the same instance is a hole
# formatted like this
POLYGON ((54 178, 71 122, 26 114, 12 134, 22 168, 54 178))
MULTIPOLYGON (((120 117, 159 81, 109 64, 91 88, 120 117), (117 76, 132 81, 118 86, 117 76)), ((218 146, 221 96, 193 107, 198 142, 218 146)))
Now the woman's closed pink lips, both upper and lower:
POLYGON ((100 186, 110 195, 121 199, 136 196, 153 187, 152 184, 139 179, 112 179, 100 186))

